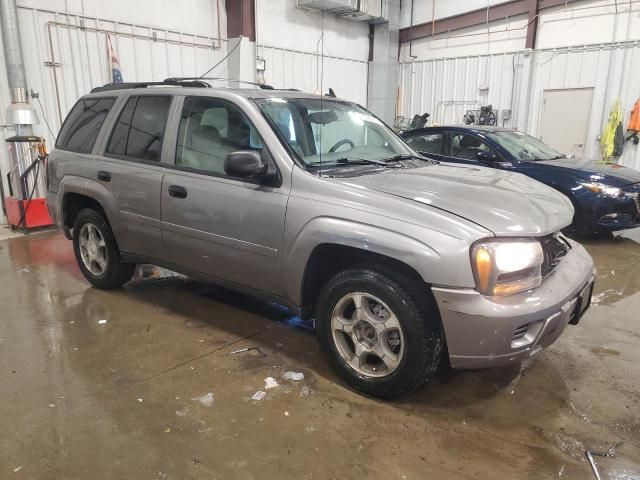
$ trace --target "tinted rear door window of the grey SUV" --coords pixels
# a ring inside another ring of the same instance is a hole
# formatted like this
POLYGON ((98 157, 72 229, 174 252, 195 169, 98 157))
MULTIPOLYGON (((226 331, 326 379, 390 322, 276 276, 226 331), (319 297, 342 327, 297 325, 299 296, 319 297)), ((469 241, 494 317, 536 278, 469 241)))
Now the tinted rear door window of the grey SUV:
POLYGON ((131 97, 111 133, 107 153, 160 161, 171 97, 131 97))

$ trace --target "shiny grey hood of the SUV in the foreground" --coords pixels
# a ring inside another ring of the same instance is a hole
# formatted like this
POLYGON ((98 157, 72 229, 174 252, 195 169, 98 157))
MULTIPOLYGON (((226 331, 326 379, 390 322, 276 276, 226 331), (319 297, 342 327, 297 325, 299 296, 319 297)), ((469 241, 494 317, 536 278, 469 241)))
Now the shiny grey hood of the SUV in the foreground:
POLYGON ((547 235, 573 219, 571 201, 561 193, 492 168, 439 164, 342 181, 446 210, 496 236, 547 235))

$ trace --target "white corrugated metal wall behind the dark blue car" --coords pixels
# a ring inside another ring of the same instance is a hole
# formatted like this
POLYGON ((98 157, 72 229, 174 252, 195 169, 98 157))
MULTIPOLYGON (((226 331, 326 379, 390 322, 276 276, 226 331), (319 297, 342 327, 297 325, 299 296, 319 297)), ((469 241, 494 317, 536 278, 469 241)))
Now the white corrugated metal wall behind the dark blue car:
MULTIPOLYGON (((499 125, 537 136, 544 90, 592 87, 586 153, 600 158, 609 110, 619 98, 626 123, 640 97, 639 78, 637 41, 407 62, 399 66, 398 114, 429 112, 436 123, 461 123, 467 109, 492 104, 512 110, 510 120, 498 116, 499 125)), ((640 169, 640 148, 627 142, 621 163, 640 169)))

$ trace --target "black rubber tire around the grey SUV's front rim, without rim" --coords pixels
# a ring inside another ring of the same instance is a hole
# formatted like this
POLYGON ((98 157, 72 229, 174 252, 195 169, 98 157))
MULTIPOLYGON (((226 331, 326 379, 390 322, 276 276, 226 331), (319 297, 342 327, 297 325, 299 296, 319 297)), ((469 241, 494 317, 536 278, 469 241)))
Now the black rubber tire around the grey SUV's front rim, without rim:
POLYGON ((316 322, 320 345, 332 368, 347 385, 366 395, 392 399, 413 392, 435 374, 440 363, 444 336, 431 292, 421 282, 392 269, 360 265, 336 274, 320 292, 316 322), (364 292, 384 302, 402 328, 404 351, 398 366, 386 376, 357 371, 343 358, 334 340, 334 309, 353 292, 364 292))

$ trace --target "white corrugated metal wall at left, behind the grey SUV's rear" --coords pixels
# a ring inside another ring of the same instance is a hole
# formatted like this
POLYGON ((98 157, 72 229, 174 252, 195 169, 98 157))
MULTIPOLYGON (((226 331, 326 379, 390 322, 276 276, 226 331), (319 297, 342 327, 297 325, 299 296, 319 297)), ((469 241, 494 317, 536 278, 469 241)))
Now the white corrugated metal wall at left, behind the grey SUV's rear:
MULTIPOLYGON (((28 88, 40 93, 44 118, 51 130, 58 129, 78 97, 91 88, 111 81, 107 57, 107 33, 119 57, 125 81, 162 80, 171 76, 197 76, 219 61, 227 51, 226 40, 158 29, 151 26, 118 23, 101 18, 67 13, 18 8, 21 41, 28 88)), ((226 63, 216 70, 226 76, 226 63)), ((6 78, 0 48, 0 78, 6 78)), ((5 127, 4 106, 9 104, 6 84, 0 85, 0 141, 15 134, 5 127)), ((37 135, 54 143, 37 101, 40 125, 37 135)), ((6 191, 7 151, 0 148, 0 170, 6 191)), ((0 224, 4 216, 0 211, 0 224)))

